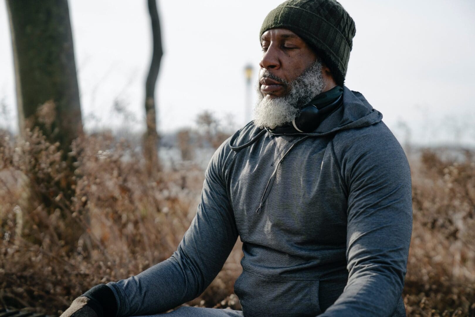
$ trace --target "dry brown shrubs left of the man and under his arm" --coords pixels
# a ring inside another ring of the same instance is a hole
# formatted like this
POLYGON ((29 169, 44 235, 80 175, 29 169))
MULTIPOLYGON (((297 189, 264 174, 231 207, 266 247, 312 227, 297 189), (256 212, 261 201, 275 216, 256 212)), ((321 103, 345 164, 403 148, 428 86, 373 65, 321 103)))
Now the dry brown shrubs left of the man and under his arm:
MULTIPOLYGON (((194 165, 153 177, 142 154, 112 134, 80 138, 69 155, 72 176, 38 130, 0 140, 1 305, 58 315, 92 286, 170 257, 194 217, 203 182, 194 165), (61 192, 65 175, 74 181, 70 199, 61 192)), ((190 304, 238 307, 228 295, 240 252, 190 304)))

